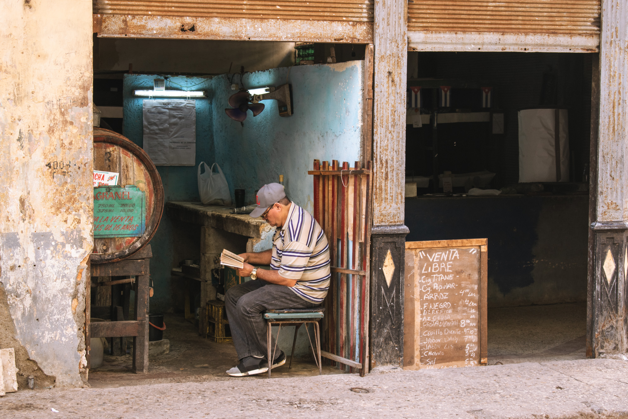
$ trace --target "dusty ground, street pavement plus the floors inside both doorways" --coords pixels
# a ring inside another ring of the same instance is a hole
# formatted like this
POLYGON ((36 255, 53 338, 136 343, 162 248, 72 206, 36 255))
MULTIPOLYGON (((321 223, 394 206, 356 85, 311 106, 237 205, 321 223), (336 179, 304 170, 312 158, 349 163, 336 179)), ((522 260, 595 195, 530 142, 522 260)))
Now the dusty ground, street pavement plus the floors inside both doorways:
POLYGON ((300 360, 270 380, 226 376, 232 345, 172 317, 171 352, 151 358, 149 374, 130 372, 129 355, 108 357, 92 388, 10 393, 0 418, 628 418, 628 362, 584 359, 585 315, 584 304, 490 309, 488 367, 360 378, 332 367, 318 376, 300 360))

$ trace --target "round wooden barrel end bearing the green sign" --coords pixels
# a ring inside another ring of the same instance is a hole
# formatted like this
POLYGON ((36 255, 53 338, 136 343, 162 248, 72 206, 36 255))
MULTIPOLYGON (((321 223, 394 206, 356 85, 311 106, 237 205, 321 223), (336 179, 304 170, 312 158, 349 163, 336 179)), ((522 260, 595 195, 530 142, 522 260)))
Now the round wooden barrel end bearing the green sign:
POLYGON ((90 259, 92 263, 116 262, 153 238, 163 213, 163 185, 141 147, 98 127, 94 127, 94 170, 116 172, 119 178, 115 186, 94 187, 94 252, 90 259))

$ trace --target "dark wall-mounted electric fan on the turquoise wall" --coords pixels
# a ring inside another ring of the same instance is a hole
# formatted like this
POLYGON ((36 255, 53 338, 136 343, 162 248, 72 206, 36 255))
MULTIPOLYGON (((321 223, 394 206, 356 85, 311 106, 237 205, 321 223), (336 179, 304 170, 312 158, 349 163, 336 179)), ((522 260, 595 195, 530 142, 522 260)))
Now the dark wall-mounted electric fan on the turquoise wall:
POLYGON ((279 87, 268 87, 268 93, 253 94, 242 89, 236 94, 232 94, 229 98, 229 105, 232 108, 226 108, 225 113, 234 121, 246 120, 247 111, 251 109, 253 116, 259 115, 264 110, 264 104, 259 101, 276 100, 279 116, 290 116, 293 114, 292 106, 292 85, 282 84, 279 87))

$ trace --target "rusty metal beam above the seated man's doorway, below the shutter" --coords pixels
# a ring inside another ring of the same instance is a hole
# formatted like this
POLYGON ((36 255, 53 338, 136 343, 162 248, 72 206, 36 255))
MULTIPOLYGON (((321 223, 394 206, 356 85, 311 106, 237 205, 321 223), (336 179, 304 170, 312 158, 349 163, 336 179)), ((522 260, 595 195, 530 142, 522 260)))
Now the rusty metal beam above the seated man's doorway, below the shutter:
POLYGON ((102 38, 372 43, 373 23, 94 14, 102 38))

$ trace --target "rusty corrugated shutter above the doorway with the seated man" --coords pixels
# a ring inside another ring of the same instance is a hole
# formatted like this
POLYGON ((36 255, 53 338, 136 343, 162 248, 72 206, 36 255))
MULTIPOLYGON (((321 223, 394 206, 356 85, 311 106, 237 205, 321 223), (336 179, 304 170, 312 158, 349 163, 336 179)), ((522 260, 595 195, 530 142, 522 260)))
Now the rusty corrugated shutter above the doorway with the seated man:
POLYGON ((373 21, 374 0, 94 0, 94 13, 207 18, 373 21))

